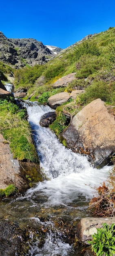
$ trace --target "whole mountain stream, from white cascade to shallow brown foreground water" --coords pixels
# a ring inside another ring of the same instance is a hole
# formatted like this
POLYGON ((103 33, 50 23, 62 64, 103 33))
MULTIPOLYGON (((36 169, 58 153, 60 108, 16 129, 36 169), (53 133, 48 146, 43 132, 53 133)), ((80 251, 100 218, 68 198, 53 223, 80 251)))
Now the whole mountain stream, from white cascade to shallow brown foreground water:
POLYGON ((73 246, 77 223, 93 216, 88 208, 95 195, 93 187, 106 180, 111 167, 93 168, 88 157, 65 148, 49 128, 41 127, 41 116, 54 111, 49 106, 37 101, 25 101, 24 106, 44 181, 18 198, 2 200, 1 219, 18 223, 20 228, 33 225, 42 230, 42 242, 37 236, 26 256, 79 256, 79 248, 73 246))

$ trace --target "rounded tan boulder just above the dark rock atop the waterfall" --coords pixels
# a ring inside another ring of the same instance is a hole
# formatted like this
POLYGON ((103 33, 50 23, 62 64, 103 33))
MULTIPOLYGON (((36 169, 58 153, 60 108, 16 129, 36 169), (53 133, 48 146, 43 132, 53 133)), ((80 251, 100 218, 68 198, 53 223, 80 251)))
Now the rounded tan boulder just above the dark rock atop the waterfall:
POLYGON ((51 108, 57 108, 62 105, 64 102, 67 102, 70 99, 70 95, 68 92, 60 92, 57 93, 48 99, 49 106, 51 108))

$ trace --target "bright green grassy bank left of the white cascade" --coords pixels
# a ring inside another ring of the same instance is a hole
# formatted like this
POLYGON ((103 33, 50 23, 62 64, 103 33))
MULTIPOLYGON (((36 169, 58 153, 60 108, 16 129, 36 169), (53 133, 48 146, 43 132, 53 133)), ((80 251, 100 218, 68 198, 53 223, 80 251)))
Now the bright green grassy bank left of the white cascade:
POLYGON ((13 157, 38 162, 26 115, 26 110, 20 110, 11 100, 0 100, 0 132, 9 141, 13 157))

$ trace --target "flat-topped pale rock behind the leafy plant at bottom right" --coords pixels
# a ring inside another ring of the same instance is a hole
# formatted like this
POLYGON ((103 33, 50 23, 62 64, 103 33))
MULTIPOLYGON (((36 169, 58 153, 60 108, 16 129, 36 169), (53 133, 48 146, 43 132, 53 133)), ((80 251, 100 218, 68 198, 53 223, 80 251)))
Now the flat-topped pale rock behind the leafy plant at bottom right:
MULTIPOLYGON (((110 218, 83 218, 77 225, 77 237, 80 242, 88 244, 88 240, 92 239, 92 235, 97 233, 97 228, 103 227, 103 223, 110 226, 115 223, 115 217, 110 218)), ((88 244, 89 245, 89 244, 88 244)))

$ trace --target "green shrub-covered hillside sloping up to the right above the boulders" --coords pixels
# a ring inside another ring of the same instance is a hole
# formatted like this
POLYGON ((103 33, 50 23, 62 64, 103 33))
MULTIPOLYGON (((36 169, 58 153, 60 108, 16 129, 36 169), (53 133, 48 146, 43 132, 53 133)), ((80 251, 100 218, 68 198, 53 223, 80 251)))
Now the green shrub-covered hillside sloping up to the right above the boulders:
POLYGON ((52 84, 72 72, 77 73, 76 80, 66 88, 67 92, 86 88, 82 103, 101 98, 115 104, 115 27, 66 48, 45 65, 15 70, 15 88, 26 87, 27 98, 34 92, 31 100, 44 92, 51 96, 58 92, 52 84))

